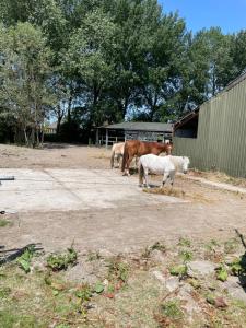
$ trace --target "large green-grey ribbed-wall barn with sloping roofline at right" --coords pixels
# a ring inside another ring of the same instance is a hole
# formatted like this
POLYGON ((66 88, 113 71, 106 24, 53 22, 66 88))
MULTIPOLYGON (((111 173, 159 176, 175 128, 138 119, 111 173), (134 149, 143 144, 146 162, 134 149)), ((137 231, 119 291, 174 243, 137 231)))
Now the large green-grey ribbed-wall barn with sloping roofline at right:
POLYGON ((177 121, 173 142, 191 167, 246 177, 246 73, 177 121))

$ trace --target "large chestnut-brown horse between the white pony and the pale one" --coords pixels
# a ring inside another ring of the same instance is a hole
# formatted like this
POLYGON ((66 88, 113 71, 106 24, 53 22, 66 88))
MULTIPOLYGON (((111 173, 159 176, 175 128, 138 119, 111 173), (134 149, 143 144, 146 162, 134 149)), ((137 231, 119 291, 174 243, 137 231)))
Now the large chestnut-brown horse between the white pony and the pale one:
POLYGON ((169 155, 172 148, 171 143, 128 140, 125 142, 121 171, 129 175, 129 166, 134 156, 140 157, 145 154, 159 155, 164 152, 169 155))

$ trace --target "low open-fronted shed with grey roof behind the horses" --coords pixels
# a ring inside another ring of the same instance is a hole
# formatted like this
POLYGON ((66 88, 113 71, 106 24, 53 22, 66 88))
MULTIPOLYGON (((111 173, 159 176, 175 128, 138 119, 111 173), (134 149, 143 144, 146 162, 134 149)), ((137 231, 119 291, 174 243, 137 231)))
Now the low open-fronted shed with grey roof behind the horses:
POLYGON ((96 144, 106 147, 126 140, 160 141, 172 140, 173 125, 162 122, 124 121, 96 129, 96 144))

